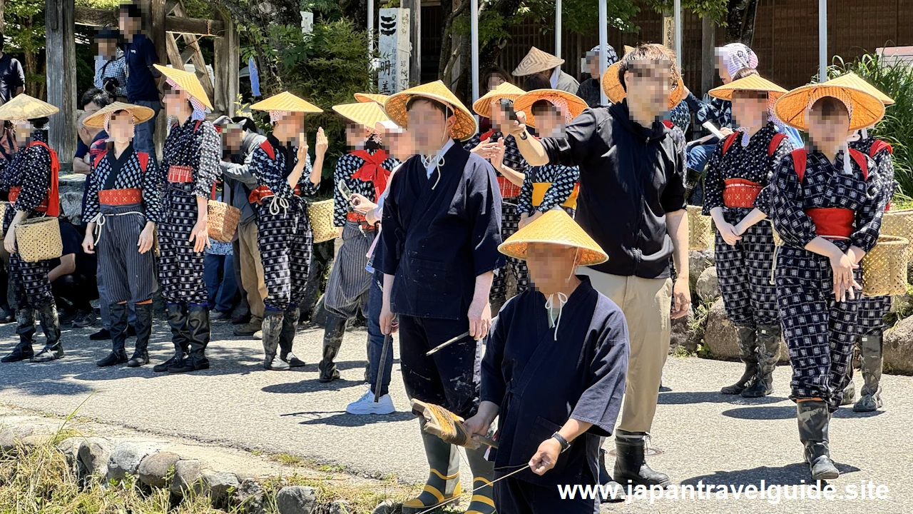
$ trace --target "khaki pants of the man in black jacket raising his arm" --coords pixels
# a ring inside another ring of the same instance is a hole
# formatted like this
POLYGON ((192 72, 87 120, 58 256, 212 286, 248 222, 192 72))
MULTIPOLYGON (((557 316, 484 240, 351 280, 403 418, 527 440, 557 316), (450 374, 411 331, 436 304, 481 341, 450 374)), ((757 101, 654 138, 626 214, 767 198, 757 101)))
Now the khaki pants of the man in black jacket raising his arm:
POLYGON ((624 410, 618 428, 625 432, 650 432, 659 382, 669 353, 672 279, 647 279, 600 273, 587 267, 578 272, 590 277, 593 288, 621 307, 628 326, 631 355, 624 387, 624 410))

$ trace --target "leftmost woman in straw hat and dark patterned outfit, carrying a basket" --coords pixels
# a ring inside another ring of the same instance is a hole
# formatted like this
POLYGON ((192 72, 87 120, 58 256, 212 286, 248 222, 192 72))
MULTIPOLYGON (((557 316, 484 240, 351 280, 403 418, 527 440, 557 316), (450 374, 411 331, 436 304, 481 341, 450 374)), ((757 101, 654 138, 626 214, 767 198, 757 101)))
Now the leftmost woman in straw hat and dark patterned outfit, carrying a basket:
POLYGON ((47 146, 47 117, 58 112, 53 105, 20 94, 0 106, 0 120, 13 123, 19 149, 12 160, 3 161, 3 186, 9 191, 9 205, 3 220, 4 248, 9 252, 9 281, 16 305, 16 334, 19 343, 3 362, 30 359, 47 362, 63 357, 60 322, 51 283, 47 280, 50 261, 25 262, 16 249, 16 225, 24 220, 58 216, 57 153, 47 146), (45 333, 45 348, 35 354, 35 318, 45 333))

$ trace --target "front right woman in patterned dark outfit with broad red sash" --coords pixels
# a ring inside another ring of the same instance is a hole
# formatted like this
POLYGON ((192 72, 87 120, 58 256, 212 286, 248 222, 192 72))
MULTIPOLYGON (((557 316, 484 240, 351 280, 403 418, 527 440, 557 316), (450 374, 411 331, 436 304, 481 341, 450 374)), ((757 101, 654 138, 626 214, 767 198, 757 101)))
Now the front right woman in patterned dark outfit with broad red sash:
POLYGON ((776 292, 792 363, 799 437, 812 479, 840 473, 831 460, 828 424, 843 400, 858 331, 859 262, 875 246, 887 204, 879 170, 846 148, 846 134, 876 123, 885 107, 864 91, 812 84, 776 105, 784 122, 809 133, 812 149, 777 167, 771 219, 776 292))

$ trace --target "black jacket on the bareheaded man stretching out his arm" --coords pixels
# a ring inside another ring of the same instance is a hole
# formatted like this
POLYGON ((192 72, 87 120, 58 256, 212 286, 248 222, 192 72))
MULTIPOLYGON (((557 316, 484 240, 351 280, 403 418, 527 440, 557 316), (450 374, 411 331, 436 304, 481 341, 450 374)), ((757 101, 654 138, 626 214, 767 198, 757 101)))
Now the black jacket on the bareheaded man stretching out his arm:
POLYGON ((541 140, 551 164, 580 166, 576 220, 608 253, 593 266, 642 278, 670 274, 666 212, 685 209, 685 155, 663 123, 634 123, 627 102, 587 109, 567 136, 541 140))

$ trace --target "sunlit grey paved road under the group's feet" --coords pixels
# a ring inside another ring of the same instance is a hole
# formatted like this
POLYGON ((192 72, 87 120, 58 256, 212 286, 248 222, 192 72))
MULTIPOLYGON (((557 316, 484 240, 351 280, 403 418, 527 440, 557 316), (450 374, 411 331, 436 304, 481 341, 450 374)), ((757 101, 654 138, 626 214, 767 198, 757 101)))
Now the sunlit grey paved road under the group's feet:
MULTIPOLYGON (((14 327, 0 327, 0 349, 14 342, 14 327)), ((417 423, 408 412, 386 417, 358 417, 344 412, 347 402, 363 392, 365 333, 345 337, 340 367, 342 380, 320 384, 322 330, 299 332, 296 353, 309 366, 287 372, 260 365, 258 341, 230 337, 230 327, 216 324, 209 352, 213 368, 190 375, 152 373, 142 369, 99 369, 103 344, 89 341, 88 329, 66 330, 66 359, 47 365, 5 364, 0 367, 0 403, 67 414, 95 396, 79 411, 101 422, 180 434, 201 441, 288 453, 331 462, 359 474, 395 474, 409 482, 425 478, 417 423)), ((107 344, 107 343, 106 343, 107 344)), ((158 322, 152 343, 154 362, 166 359, 167 329, 158 322)), ((660 395, 652 444, 660 455, 650 458, 656 469, 686 485, 794 485, 807 475, 801 464, 795 409, 785 397, 789 368, 775 374, 777 391, 761 400, 719 395, 740 365, 705 359, 669 359, 660 395)), ((398 360, 394 365, 394 402, 407 405, 398 360)), ((831 426, 832 449, 844 476, 834 481, 839 493, 846 485, 872 481, 888 487, 887 500, 793 501, 771 505, 766 499, 664 499, 656 505, 636 501, 614 505, 610 512, 913 512, 913 378, 887 376, 887 411, 855 414, 841 410, 831 426)), ((609 443, 611 444, 611 442, 609 443)), ((610 464, 611 466, 611 464, 610 464)))

